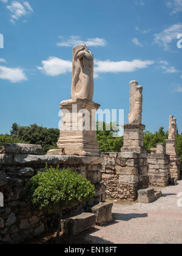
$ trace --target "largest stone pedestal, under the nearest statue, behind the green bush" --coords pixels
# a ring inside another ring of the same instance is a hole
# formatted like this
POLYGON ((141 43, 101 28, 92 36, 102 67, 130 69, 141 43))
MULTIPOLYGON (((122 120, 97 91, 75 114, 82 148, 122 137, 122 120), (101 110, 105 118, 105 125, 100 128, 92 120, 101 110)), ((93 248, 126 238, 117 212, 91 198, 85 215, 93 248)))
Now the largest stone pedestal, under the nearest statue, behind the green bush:
POLYGON ((100 155, 95 123, 99 104, 89 99, 70 99, 62 101, 60 108, 62 124, 56 154, 100 155))

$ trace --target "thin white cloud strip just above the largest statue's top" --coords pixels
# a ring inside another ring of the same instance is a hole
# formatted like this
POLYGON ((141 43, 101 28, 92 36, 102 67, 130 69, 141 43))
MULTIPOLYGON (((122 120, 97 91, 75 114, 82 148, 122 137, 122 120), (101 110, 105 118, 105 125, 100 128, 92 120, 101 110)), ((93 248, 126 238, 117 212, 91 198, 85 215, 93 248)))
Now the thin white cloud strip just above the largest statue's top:
POLYGON ((81 40, 80 37, 71 36, 69 39, 64 40, 63 37, 59 37, 61 41, 57 43, 57 46, 75 46, 78 44, 86 44, 87 46, 105 46, 106 40, 104 38, 87 38, 81 40))

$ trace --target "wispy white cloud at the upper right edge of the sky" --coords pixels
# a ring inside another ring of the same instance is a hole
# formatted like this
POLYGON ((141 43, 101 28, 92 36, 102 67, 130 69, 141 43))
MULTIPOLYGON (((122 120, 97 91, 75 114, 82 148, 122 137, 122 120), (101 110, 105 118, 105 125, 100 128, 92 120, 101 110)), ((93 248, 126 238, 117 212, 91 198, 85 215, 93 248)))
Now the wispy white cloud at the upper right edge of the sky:
POLYGON ((169 50, 169 44, 177 39, 177 35, 182 32, 182 24, 175 24, 167 29, 164 29, 160 34, 154 35, 154 42, 164 47, 164 50, 169 50))

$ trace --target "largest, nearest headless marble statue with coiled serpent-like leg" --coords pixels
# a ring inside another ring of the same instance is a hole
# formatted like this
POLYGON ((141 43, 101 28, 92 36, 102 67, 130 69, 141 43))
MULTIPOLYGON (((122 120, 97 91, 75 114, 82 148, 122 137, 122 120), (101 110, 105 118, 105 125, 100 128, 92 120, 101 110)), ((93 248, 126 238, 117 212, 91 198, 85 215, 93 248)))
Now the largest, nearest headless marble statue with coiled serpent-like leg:
POLYGON ((73 48, 72 99, 93 99, 93 54, 85 44, 73 48))

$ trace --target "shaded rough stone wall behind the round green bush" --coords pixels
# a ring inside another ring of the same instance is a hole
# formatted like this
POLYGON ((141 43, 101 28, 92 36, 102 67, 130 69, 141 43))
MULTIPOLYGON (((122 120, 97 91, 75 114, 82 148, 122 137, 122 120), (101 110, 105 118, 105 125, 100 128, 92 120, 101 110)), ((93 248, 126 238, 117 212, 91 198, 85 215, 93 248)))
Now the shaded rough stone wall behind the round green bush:
POLYGON ((25 183, 38 171, 45 171, 45 163, 59 165, 60 169, 69 167, 95 185, 95 197, 88 204, 67 209, 63 215, 87 212, 106 199, 106 188, 100 183, 100 157, 33 154, 0 154, 0 192, 4 194, 4 207, 0 208, 0 244, 19 243, 56 227, 55 215, 33 210, 22 196, 25 183))

